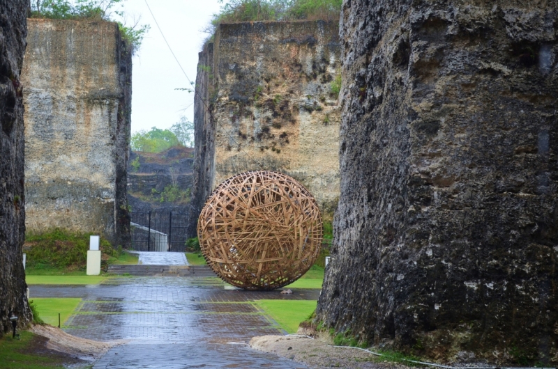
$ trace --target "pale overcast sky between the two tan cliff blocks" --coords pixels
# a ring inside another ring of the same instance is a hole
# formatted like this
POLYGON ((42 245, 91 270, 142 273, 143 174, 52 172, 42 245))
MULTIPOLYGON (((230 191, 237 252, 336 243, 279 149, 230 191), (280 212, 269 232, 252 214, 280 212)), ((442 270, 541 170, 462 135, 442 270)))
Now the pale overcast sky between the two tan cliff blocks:
POLYGON ((151 127, 168 128, 181 115, 189 120, 194 117, 194 94, 174 90, 190 84, 169 52, 146 1, 192 81, 196 78, 197 53, 208 36, 202 30, 220 7, 218 0, 126 0, 123 3, 128 24, 133 24, 134 17, 141 17, 140 24, 151 26, 140 52, 133 58, 132 132, 151 127))

